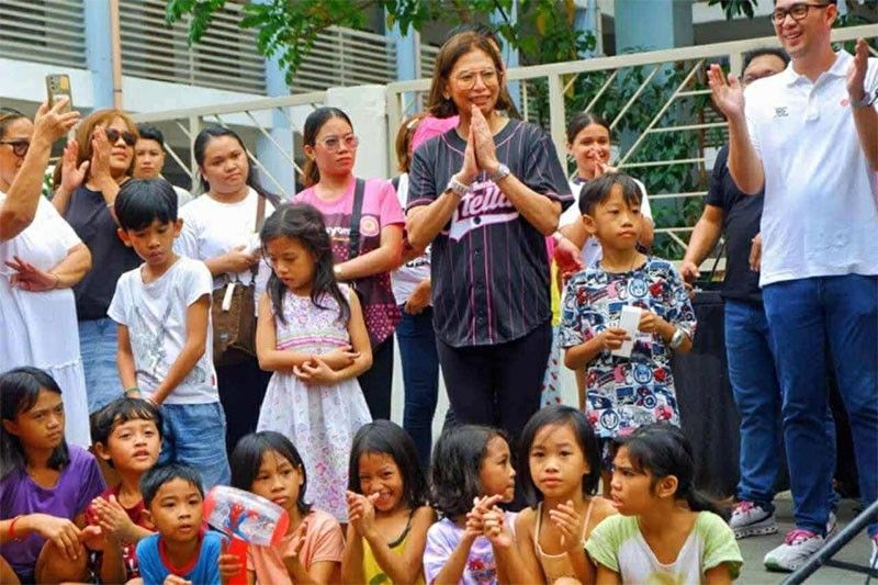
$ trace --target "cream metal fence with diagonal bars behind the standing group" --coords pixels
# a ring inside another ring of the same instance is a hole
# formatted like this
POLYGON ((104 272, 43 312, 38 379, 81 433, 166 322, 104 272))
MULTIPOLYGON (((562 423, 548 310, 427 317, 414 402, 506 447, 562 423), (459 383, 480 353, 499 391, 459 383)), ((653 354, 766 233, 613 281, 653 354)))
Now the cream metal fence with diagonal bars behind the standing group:
MULTIPOLYGON (((864 25, 833 31, 835 42, 858 37, 877 37, 878 25, 864 25)), ((774 37, 754 38, 696 47, 593 58, 511 69, 509 80, 521 86, 522 115, 544 125, 551 134, 562 164, 565 162, 565 122, 577 111, 599 112, 610 121, 619 137, 615 165, 643 180, 650 192, 656 220, 656 245, 660 254, 679 258, 688 235, 702 206, 707 173, 712 157, 725 142, 725 122, 713 109, 706 86, 705 70, 711 63, 740 71, 745 53, 776 46, 774 37)), ((430 49, 421 59, 435 59, 430 49)), ((420 98, 429 90, 429 79, 397 81, 386 85, 387 161, 395 160, 393 139, 401 122, 420 108, 420 98)), ((170 144, 190 145, 203 123, 235 125, 255 144, 280 150, 294 172, 302 153, 284 149, 270 132, 278 117, 290 132, 301 132, 296 121, 326 100, 325 91, 271 98, 248 103, 205 106, 176 112, 139 114, 138 121, 164 124, 177 133, 170 144), (299 110, 300 114, 294 111, 299 110)), ((171 156, 194 177, 191 150, 171 149, 171 156), (184 160, 189 158, 189 162, 184 160)), ((267 176, 269 187, 282 181, 254 159, 267 176)), ((393 168, 387 165, 386 168, 393 168)), ((275 171, 277 172, 277 169, 275 171)), ((722 266, 722 265, 721 265, 722 266)))

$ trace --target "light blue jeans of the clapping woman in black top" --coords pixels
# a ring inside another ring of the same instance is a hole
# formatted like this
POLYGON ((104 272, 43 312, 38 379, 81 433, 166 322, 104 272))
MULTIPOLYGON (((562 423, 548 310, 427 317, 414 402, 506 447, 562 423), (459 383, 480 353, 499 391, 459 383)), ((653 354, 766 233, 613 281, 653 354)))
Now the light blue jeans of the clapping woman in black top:
POLYGON ((116 323, 111 318, 79 322, 79 352, 86 371, 89 414, 122 397, 116 367, 116 323))

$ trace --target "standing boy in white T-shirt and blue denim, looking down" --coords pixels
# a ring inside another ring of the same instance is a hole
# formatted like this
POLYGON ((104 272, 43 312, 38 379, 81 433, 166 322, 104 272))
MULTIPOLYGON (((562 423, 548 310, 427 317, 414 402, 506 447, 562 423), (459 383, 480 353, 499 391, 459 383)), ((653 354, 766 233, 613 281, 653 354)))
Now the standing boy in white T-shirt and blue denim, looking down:
POLYGON ((159 463, 195 468, 205 488, 229 481, 226 421, 216 389, 211 336, 213 278, 203 262, 178 256, 182 220, 164 179, 127 181, 115 200, 119 237, 144 260, 125 272, 108 314, 119 324, 119 373, 126 395, 161 407, 159 463))

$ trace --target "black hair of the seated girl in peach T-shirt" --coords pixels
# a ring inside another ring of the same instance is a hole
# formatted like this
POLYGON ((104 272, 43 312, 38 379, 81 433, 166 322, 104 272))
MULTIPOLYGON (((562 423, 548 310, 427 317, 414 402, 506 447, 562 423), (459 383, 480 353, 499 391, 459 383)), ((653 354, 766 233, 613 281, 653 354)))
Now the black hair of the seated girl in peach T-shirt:
POLYGON ((305 491, 308 487, 308 476, 302 455, 290 439, 273 430, 262 430, 245 435, 232 451, 228 464, 232 468, 232 487, 252 490, 254 481, 259 475, 262 458, 269 451, 274 451, 293 465, 302 474, 302 486, 299 488, 299 499, 295 507, 302 516, 311 511, 311 504, 305 502, 305 491))

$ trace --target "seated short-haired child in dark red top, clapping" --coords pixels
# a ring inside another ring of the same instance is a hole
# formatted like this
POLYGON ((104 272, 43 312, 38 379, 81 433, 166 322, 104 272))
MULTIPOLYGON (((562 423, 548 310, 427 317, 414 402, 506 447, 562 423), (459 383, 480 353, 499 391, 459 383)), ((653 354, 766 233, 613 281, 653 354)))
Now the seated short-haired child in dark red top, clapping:
POLYGON ((92 416, 91 437, 95 453, 116 471, 120 483, 86 510, 88 524, 110 537, 89 543, 90 566, 103 583, 124 583, 140 575, 135 547, 155 531, 144 514, 140 477, 161 450, 161 413, 150 402, 119 398, 92 416))

